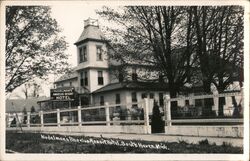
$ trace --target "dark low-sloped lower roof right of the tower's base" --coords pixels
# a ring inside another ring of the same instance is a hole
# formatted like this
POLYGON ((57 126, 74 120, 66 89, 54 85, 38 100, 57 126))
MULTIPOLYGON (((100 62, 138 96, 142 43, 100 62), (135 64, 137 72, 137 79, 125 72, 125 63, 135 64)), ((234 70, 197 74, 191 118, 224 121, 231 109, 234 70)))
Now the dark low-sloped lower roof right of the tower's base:
POLYGON ((128 90, 151 90, 151 91, 167 91, 168 86, 164 83, 159 82, 138 82, 138 81, 128 81, 128 82, 118 82, 108 84, 96 91, 93 94, 128 89, 128 90))

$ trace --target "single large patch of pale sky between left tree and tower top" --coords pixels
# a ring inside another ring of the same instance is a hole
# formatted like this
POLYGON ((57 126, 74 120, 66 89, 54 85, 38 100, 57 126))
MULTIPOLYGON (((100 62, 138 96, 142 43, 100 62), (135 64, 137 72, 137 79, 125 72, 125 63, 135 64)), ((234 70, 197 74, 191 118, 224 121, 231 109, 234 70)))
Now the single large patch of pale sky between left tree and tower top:
MULTIPOLYGON (((62 35, 66 36, 66 41, 69 43, 69 48, 66 51, 71 56, 69 57, 69 63, 72 66, 76 66, 76 46, 74 43, 80 37, 83 28, 84 20, 88 18, 99 19, 96 14, 96 9, 101 9, 102 6, 97 5, 54 5, 52 8, 52 17, 54 17, 60 28, 62 29, 62 35)), ((100 24, 102 25, 102 24, 100 24)))

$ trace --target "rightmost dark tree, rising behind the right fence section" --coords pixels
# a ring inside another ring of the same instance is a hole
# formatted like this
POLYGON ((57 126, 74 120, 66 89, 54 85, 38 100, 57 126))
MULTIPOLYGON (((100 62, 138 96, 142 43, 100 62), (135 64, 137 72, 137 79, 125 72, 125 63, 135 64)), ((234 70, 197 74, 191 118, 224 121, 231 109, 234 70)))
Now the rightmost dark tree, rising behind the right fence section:
MULTIPOLYGON (((204 91, 209 93, 214 84, 223 93, 234 81, 242 81, 243 8, 202 6, 193 7, 193 11, 204 91)), ((224 102, 224 98, 219 98, 220 116, 224 102)))

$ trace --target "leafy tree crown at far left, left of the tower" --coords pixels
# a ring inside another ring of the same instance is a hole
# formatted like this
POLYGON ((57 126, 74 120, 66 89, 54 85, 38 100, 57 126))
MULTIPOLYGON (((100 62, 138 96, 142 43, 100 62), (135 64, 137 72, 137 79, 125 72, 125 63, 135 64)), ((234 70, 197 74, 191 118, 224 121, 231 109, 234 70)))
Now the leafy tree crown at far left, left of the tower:
POLYGON ((68 69, 65 38, 48 6, 6 7, 5 91, 68 69))

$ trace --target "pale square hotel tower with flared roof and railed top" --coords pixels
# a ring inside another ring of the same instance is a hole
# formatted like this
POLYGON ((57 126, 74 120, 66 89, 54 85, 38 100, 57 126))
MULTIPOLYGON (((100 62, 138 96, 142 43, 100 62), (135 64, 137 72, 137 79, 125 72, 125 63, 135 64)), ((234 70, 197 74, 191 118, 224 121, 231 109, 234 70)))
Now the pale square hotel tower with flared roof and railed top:
POLYGON ((79 94, 90 94, 109 83, 107 41, 98 20, 89 18, 84 21, 84 30, 75 45, 79 94))

